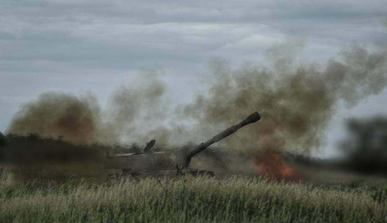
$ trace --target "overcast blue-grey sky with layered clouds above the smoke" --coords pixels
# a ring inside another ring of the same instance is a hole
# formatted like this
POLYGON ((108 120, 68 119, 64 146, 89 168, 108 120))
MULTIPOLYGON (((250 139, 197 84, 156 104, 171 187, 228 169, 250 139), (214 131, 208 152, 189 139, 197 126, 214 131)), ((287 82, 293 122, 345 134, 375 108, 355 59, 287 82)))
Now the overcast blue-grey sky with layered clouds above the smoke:
MULTIPOLYGON (((384 41, 386 18, 385 0, 0 0, 0 131, 45 91, 90 91, 104 107, 118 86, 157 69, 172 99, 189 102, 214 57, 264 63, 265 50, 295 36, 305 59, 321 63, 352 41, 384 41)), ((338 110, 328 147, 343 118, 387 114, 385 102, 387 91, 338 110)))

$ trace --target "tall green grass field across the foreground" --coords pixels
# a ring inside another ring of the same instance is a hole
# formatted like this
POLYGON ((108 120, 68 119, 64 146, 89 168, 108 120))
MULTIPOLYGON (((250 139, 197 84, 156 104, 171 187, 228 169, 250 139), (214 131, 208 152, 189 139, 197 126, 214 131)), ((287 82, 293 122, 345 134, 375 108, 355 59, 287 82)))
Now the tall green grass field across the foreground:
POLYGON ((2 222, 387 222, 387 186, 266 178, 0 186, 2 222))

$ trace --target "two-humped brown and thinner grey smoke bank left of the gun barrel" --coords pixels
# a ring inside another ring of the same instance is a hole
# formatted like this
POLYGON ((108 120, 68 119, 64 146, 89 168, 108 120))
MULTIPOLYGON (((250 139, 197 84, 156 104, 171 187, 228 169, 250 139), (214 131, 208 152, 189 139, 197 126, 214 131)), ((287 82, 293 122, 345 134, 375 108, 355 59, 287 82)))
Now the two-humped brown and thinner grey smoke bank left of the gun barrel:
POLYGON ((22 105, 7 132, 60 137, 78 144, 145 142, 145 135, 160 135, 149 132, 166 119, 165 88, 156 71, 144 71, 131 85, 118 88, 105 110, 91 94, 46 92, 22 105))

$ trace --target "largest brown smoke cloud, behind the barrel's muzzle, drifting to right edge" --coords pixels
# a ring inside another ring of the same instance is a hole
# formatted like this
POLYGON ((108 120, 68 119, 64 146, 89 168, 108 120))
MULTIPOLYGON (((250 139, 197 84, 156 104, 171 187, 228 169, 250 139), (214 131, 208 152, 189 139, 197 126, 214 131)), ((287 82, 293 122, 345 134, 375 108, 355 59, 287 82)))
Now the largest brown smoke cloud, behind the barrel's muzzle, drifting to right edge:
MULTIPOLYGON (((298 44, 299 45, 299 44, 298 44)), ((288 47, 288 52, 292 48, 288 47)), ((341 52, 341 59, 325 67, 294 65, 283 46, 269 50, 273 66, 231 68, 215 61, 215 81, 206 95, 187 105, 182 113, 195 121, 204 135, 261 112, 262 120, 230 136, 223 145, 244 151, 287 150, 307 153, 324 142, 324 130, 338 102, 356 105, 387 84, 385 49, 370 52, 356 44, 341 52)))

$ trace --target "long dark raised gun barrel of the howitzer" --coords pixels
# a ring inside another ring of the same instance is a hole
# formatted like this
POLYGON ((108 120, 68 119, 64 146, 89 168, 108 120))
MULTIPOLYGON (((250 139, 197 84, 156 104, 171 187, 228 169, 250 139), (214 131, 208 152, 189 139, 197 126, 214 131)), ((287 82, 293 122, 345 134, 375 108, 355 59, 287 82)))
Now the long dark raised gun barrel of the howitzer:
POLYGON ((191 158, 194 155, 200 153, 201 151, 203 151, 205 148, 211 146, 212 144, 214 144, 220 140, 223 140, 223 138, 235 133, 236 131, 238 131, 238 129, 242 128, 243 126, 254 123, 260 119, 261 119, 261 115, 259 113, 257 113, 257 111, 255 111, 255 113, 249 115, 245 120, 243 120, 239 124, 231 126, 228 129, 222 131, 221 133, 215 135, 207 142, 201 143, 201 144, 189 149, 187 152, 187 160, 191 160, 191 158))

